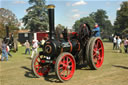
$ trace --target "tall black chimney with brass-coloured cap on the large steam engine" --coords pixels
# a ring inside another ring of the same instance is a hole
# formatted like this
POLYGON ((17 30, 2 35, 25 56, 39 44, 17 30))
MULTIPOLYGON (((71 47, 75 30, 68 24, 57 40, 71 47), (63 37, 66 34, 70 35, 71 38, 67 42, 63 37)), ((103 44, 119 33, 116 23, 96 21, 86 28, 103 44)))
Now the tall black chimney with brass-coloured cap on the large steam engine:
POLYGON ((49 35, 50 39, 54 39, 55 28, 54 28, 54 5, 48 5, 48 16, 49 16, 49 35))

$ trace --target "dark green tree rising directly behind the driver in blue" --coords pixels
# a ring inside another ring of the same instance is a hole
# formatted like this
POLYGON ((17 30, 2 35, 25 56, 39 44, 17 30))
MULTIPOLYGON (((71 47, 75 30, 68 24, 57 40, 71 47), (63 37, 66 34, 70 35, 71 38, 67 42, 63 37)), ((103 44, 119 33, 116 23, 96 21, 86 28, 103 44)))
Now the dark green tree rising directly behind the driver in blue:
POLYGON ((108 16, 106 14, 105 10, 98 9, 96 12, 92 12, 89 15, 100 26, 102 32, 101 36, 110 35, 113 32, 113 26, 111 21, 108 20, 108 16))

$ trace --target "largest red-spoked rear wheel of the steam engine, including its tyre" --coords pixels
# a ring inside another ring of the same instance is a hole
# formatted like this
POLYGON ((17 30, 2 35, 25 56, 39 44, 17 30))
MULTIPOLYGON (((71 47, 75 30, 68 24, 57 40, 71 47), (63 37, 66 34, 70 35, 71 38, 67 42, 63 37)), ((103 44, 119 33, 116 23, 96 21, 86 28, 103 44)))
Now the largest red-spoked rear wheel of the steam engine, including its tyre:
POLYGON ((99 37, 92 40, 89 46, 89 66, 91 69, 98 69, 104 61, 104 46, 99 37))

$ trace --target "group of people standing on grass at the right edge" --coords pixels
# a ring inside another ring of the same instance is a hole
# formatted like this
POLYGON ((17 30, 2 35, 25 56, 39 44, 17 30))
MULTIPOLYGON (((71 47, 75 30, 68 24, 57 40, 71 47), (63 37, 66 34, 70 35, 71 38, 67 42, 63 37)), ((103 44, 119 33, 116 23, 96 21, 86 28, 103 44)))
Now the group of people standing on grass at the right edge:
POLYGON ((115 35, 113 38, 113 50, 128 53, 128 38, 121 39, 119 36, 115 35))

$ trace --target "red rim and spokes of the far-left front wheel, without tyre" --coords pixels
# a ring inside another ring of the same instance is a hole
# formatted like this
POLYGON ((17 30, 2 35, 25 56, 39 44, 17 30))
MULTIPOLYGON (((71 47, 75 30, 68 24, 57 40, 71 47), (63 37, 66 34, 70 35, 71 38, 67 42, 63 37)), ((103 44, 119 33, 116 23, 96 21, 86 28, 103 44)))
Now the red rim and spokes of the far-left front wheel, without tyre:
POLYGON ((45 76, 50 71, 49 64, 45 64, 45 60, 42 60, 44 58, 43 55, 38 55, 34 62, 34 70, 39 76, 45 76))

